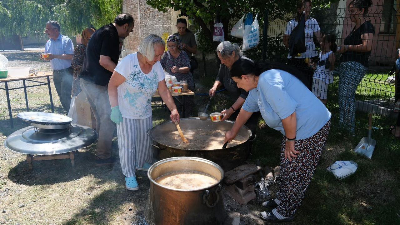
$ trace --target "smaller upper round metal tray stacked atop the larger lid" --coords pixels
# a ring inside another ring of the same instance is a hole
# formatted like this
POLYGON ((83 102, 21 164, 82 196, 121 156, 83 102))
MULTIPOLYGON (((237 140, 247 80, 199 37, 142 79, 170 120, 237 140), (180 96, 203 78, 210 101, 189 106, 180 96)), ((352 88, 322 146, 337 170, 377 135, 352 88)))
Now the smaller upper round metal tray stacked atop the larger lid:
POLYGON ((72 118, 51 112, 20 112, 17 117, 25 122, 39 125, 69 125, 72 118))

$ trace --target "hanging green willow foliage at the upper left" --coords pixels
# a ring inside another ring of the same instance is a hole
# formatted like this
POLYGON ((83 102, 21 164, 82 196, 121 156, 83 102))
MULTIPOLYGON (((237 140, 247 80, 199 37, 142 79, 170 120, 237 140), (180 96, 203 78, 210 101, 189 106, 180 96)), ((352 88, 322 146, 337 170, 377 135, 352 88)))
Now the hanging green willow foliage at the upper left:
POLYGON ((1 0, 0 37, 41 33, 48 20, 61 24, 63 34, 79 34, 112 22, 122 0, 1 0))

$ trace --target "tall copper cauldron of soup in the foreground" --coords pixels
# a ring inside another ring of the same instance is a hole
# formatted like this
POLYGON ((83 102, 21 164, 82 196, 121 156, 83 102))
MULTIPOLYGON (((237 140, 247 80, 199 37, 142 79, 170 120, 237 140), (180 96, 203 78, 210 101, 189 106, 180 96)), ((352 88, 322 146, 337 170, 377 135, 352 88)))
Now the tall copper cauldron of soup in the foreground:
POLYGON ((150 225, 222 225, 225 209, 222 200, 224 171, 211 161, 195 157, 174 157, 154 163, 147 172, 150 179, 145 219, 150 225), (203 189, 179 190, 164 187, 154 180, 167 173, 196 171, 218 180, 203 189))

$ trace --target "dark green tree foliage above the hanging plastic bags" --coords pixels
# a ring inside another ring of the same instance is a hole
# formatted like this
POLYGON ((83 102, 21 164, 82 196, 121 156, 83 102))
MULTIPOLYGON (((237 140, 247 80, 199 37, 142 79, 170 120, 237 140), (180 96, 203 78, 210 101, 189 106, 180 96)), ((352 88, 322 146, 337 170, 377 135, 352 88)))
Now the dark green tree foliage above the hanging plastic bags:
MULTIPOLYGON (((313 12, 325 10, 338 0, 312 0, 313 12)), ((287 20, 288 14, 296 12, 296 0, 147 0, 147 4, 162 12, 168 8, 180 10, 182 16, 194 18, 201 28, 199 42, 206 48, 214 48, 212 44, 212 28, 216 21, 224 25, 225 40, 236 40, 230 36, 229 20, 241 18, 246 12, 258 13, 260 28, 263 26, 265 10, 268 11, 268 20, 287 20)), ((314 14, 314 13, 313 13, 314 14)), ((276 43, 276 40, 268 40, 276 43)), ((200 48, 202 48, 199 46, 200 48)), ((207 50, 207 49, 200 49, 207 50)))

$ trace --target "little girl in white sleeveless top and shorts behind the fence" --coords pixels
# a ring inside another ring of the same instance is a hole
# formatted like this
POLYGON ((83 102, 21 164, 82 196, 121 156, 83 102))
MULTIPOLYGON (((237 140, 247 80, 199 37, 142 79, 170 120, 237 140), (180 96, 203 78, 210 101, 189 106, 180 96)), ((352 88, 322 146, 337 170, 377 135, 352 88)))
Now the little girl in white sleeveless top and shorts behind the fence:
POLYGON ((328 84, 333 82, 335 68, 336 37, 334 34, 322 36, 321 52, 312 77, 312 92, 325 105, 328 95, 328 84))

